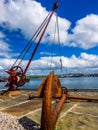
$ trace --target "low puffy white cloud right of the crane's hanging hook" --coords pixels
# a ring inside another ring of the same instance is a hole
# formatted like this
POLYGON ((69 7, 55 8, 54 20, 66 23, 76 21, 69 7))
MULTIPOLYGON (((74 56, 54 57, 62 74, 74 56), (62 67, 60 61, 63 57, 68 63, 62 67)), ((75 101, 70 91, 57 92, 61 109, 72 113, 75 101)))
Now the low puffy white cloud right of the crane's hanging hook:
POLYGON ((76 57, 75 55, 72 55, 70 58, 64 58, 63 59, 63 65, 64 67, 68 68, 95 68, 98 66, 98 56, 87 54, 87 53, 81 53, 79 57, 76 57), (66 62, 67 61, 67 62, 66 62))

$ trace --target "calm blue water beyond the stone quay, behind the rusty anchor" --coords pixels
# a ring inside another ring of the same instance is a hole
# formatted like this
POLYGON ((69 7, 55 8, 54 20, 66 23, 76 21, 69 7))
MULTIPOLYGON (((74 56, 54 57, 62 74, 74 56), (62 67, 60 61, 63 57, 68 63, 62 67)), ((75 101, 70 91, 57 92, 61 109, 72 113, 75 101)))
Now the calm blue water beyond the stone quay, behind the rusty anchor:
MULTIPOLYGON (((21 88, 39 88, 43 78, 32 78, 21 88)), ((80 78, 60 78, 62 86, 68 88, 98 88, 98 77, 80 77, 80 78)), ((4 89, 3 82, 0 82, 0 89, 4 89)))

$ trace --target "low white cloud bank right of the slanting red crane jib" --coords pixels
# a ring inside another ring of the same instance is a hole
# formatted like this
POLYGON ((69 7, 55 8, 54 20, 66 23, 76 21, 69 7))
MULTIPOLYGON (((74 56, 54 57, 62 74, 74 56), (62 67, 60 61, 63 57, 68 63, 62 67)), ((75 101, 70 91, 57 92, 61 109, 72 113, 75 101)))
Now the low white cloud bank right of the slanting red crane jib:
MULTIPOLYGON (((87 53, 81 53, 79 57, 72 55, 70 58, 61 57, 63 70, 71 72, 96 72, 91 70, 98 70, 98 55, 92 55, 87 53)), ((30 69, 50 69, 51 57, 42 57, 39 60, 33 61, 30 65, 30 69)), ((53 57, 52 68, 53 70, 60 70, 60 57, 53 57)))

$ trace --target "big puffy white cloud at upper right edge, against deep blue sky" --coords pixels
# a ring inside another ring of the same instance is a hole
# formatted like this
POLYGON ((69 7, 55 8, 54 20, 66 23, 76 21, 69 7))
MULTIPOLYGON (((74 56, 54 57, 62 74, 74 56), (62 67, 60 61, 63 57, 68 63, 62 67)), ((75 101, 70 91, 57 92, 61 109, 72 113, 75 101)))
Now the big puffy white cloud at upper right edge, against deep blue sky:
POLYGON ((98 15, 90 14, 77 21, 70 35, 70 46, 90 49, 98 46, 98 15))

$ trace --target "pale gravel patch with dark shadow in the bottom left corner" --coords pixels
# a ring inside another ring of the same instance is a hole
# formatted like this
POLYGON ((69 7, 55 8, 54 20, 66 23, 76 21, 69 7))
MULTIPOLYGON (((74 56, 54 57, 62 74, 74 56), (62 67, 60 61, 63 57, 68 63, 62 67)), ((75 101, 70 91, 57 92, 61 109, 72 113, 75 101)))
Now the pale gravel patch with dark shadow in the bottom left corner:
POLYGON ((39 130, 40 125, 23 117, 18 119, 15 116, 0 112, 0 130, 39 130))

